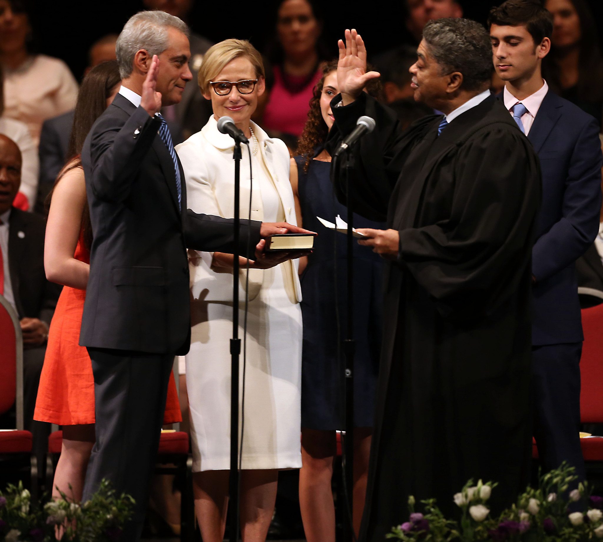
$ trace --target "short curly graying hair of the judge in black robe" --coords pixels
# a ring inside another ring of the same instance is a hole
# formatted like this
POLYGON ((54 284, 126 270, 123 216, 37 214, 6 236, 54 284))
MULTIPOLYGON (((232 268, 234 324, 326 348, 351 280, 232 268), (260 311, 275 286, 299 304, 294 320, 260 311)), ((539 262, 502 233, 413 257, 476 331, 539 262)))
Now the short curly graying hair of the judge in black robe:
POLYGON ((475 20, 430 20, 423 28, 423 39, 441 72, 463 74, 463 89, 479 90, 490 81, 493 70, 490 36, 475 20))

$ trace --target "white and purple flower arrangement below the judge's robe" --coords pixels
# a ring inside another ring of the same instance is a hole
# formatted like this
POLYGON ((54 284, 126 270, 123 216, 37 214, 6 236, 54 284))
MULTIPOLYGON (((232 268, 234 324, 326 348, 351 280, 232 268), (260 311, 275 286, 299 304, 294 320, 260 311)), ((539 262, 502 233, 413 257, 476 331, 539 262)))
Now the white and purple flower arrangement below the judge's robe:
POLYGON ((421 501, 425 513, 415 512, 415 499, 411 496, 408 521, 394 527, 387 538, 425 542, 603 541, 603 497, 592 496, 589 486, 582 483, 568 493, 576 478, 574 468, 562 464, 540 476, 538 488, 528 487, 497 518, 488 509, 488 499, 496 484, 480 480, 473 485, 470 480, 453 496, 461 509, 460 523, 446 519, 435 499, 421 501))

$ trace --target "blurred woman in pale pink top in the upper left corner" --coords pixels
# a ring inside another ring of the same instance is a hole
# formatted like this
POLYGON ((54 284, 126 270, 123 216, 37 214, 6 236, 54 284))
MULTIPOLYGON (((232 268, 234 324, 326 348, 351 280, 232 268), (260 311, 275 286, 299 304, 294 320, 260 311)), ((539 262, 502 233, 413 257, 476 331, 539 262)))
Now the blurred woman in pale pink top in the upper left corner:
POLYGON ((75 106, 78 85, 62 60, 36 54, 23 0, 0 0, 4 116, 28 125, 38 144, 42 123, 75 106))

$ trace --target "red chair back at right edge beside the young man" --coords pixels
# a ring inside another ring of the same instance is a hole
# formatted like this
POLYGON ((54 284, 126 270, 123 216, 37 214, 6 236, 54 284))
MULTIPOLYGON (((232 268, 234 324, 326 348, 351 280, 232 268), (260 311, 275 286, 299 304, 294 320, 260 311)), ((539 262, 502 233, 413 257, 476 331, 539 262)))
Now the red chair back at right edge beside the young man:
POLYGON ((603 423, 603 304, 582 309, 580 420, 603 423))

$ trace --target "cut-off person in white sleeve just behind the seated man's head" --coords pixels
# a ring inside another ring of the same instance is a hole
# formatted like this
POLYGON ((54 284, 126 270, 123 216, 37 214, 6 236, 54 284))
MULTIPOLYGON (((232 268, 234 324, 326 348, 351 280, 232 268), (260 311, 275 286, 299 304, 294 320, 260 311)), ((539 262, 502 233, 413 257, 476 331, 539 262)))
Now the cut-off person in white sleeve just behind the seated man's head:
POLYGON ((4 113, 4 78, 0 66, 0 134, 12 139, 21 151, 21 187, 14 198, 13 206, 24 211, 33 209, 38 184, 38 156, 36 144, 31 139, 25 122, 2 116, 4 113))

